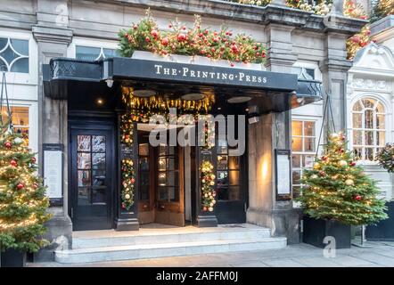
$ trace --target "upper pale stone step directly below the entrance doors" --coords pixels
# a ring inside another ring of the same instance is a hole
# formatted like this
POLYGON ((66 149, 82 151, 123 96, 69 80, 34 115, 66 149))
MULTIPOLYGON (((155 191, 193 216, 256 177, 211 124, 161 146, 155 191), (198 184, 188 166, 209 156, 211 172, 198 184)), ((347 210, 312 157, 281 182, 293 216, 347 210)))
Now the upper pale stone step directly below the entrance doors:
POLYGON ((269 238, 270 230, 262 227, 246 228, 225 228, 218 227, 214 231, 209 228, 200 230, 200 232, 165 232, 160 235, 157 233, 130 232, 128 235, 107 235, 97 237, 75 237, 72 240, 72 248, 103 248, 117 246, 131 246, 154 244, 158 240, 161 244, 177 243, 188 241, 205 241, 205 240, 245 240, 260 238, 269 238))

